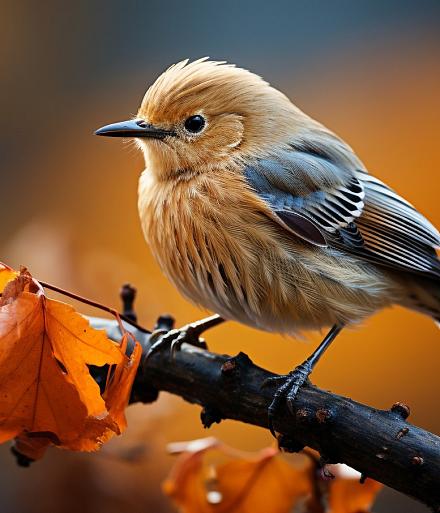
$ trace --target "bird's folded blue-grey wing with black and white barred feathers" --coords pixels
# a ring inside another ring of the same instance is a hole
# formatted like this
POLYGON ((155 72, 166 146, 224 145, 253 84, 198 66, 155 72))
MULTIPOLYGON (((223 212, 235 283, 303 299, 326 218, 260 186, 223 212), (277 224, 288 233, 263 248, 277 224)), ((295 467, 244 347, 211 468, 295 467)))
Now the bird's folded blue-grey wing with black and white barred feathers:
POLYGON ((324 155, 289 151, 244 171, 285 229, 396 269, 440 277, 438 231, 380 180, 324 155))

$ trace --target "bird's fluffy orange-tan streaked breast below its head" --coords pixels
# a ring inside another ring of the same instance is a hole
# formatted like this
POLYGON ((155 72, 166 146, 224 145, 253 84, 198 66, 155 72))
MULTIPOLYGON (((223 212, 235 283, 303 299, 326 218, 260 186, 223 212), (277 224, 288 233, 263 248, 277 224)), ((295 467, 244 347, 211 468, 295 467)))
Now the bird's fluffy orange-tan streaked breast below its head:
POLYGON ((229 318, 258 316, 262 299, 285 288, 273 271, 284 250, 265 209, 234 173, 171 183, 145 171, 140 180, 142 227, 163 272, 190 300, 229 318))

